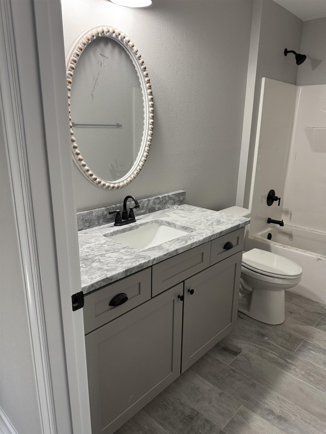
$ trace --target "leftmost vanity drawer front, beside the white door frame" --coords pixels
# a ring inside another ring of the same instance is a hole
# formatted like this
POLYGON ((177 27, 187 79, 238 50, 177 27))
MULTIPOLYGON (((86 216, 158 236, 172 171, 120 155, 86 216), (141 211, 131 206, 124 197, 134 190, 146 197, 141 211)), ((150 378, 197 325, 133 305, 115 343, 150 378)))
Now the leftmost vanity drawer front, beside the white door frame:
POLYGON ((150 268, 86 294, 84 306, 85 334, 112 321, 150 298, 150 268), (128 300, 119 306, 110 306, 110 301, 118 294, 126 294, 128 300))

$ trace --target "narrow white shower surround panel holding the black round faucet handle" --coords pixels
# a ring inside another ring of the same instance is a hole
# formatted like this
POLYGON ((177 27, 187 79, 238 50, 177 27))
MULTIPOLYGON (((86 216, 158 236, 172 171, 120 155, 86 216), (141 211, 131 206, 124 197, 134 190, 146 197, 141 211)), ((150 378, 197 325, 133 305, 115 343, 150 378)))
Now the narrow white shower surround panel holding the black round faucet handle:
POLYGON ((251 193, 252 216, 250 235, 268 227, 267 217, 280 220, 284 207, 284 185, 294 116, 296 86, 264 78, 258 118, 255 153, 255 179, 251 193), (268 191, 281 196, 270 207, 266 204, 268 191))

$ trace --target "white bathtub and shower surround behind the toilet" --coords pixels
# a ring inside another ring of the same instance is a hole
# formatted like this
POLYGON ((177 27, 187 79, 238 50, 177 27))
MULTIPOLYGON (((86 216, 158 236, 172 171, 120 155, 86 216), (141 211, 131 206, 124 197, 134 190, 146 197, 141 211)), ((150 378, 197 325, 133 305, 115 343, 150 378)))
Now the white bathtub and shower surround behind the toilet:
POLYGON ((292 259, 303 268, 302 282, 292 291, 326 303, 326 254, 312 247, 314 239, 324 247, 326 234, 326 84, 263 78, 255 148, 245 247, 292 259), (270 189, 281 196, 280 207, 267 206, 270 189), (283 219, 284 228, 267 224, 268 217, 283 219), (288 237, 281 241, 283 230, 288 237))

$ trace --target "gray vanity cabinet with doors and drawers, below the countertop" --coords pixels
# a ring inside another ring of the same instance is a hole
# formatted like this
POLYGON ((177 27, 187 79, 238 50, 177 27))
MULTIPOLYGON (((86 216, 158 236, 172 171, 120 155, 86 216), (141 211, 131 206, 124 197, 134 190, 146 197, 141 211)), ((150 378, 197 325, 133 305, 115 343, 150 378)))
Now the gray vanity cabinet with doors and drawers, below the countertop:
POLYGON ((92 434, 113 434, 232 330, 243 234, 237 229, 85 297, 92 434), (121 293, 128 300, 111 308, 121 293))

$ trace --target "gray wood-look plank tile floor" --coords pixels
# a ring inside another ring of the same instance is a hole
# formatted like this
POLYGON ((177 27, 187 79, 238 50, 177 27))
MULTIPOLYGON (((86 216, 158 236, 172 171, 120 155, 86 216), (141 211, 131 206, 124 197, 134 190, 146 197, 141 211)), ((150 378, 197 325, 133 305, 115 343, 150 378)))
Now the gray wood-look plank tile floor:
POLYGON ((286 319, 239 313, 225 337, 116 434, 326 433, 326 306, 286 292, 286 319))

